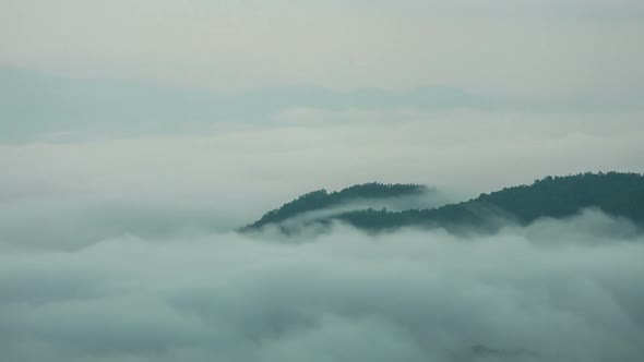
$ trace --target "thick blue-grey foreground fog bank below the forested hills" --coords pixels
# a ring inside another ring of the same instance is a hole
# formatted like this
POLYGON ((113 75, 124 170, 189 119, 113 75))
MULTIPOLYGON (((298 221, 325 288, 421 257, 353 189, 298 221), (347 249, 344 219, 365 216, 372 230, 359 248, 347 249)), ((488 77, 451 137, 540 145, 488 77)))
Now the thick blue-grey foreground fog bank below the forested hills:
POLYGON ((466 239, 336 225, 295 244, 227 232, 1 245, 8 361, 644 355, 644 237, 597 210, 466 239))

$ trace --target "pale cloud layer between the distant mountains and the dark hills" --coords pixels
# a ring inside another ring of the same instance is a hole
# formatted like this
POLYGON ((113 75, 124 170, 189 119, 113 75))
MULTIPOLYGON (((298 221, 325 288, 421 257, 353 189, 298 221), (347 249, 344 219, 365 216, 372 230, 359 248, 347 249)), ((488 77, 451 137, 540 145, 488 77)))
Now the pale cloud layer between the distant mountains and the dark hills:
POLYGON ((2 144, 0 240, 71 250, 234 230, 306 192, 371 181, 437 186, 454 202, 547 174, 644 169, 636 114, 373 114, 2 144))

